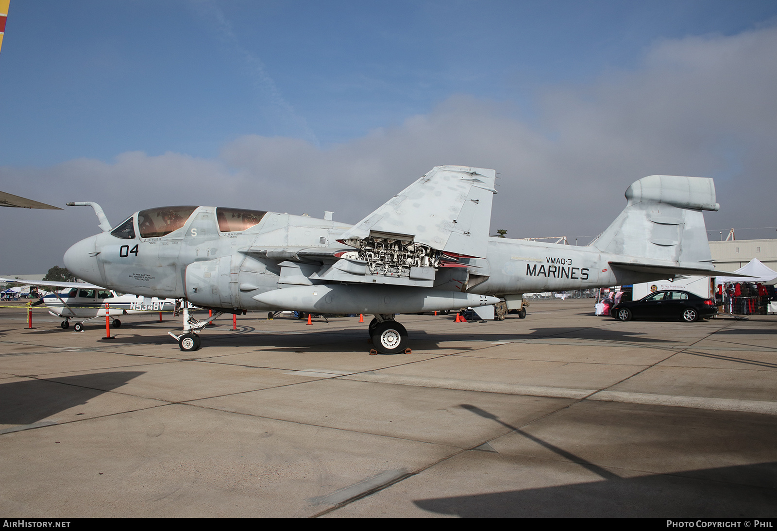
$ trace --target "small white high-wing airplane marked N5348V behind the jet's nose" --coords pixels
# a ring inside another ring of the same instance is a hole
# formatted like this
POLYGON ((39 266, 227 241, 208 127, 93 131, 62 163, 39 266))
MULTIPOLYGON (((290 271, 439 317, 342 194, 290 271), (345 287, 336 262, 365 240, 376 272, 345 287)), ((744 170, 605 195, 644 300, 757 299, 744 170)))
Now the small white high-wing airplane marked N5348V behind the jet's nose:
POLYGON ((0 278, 0 282, 70 288, 68 291, 62 290, 62 293, 55 291, 46 295, 42 301, 51 315, 64 318, 60 325, 63 329, 70 328, 71 318, 81 319, 73 326, 75 331, 82 331, 85 322, 104 318, 106 314, 113 317, 112 326, 119 328, 121 321, 117 317, 120 315, 173 311, 176 307, 175 299, 159 299, 158 297, 141 297, 140 295, 117 293, 116 291, 106 290, 103 287, 84 282, 5 278, 0 278), (107 310, 105 308, 106 303, 108 303, 107 310))

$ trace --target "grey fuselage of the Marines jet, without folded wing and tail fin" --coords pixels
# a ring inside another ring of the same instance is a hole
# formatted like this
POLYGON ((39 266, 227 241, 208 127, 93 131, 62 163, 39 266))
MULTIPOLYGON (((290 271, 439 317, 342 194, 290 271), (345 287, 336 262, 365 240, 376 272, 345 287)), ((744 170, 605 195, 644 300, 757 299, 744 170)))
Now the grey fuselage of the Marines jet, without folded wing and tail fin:
MULTIPOLYGON (((145 297, 186 298, 202 307, 244 310, 280 309, 254 298, 271 290, 330 284, 332 279, 353 283, 355 278, 333 275, 340 274, 333 268, 338 259, 310 256, 317 248, 322 253, 332 248, 353 251, 337 242, 350 228, 347 224, 267 212, 253 227, 222 231, 216 209, 200 206, 175 231, 143 238, 138 214, 125 222, 133 224, 134 230, 124 231, 124 238, 114 235, 116 230, 106 231, 73 245, 65 255, 65 265, 80 278, 112 290, 145 297), (132 238, 127 238, 129 235, 132 238), (308 250, 307 257, 298 255, 301 248, 308 250)), ((489 238, 487 249, 486 258, 460 257, 452 267, 438 267, 433 277, 403 281, 398 276, 392 279, 395 286, 384 289, 399 293, 406 289, 402 286, 422 286, 503 297, 657 278, 640 273, 630 273, 628 278, 623 273, 616 276, 608 262, 617 260, 618 255, 593 247, 489 238)), ((348 266, 357 263, 345 262, 348 266)), ((356 285, 369 286, 370 279, 368 268, 356 285)), ((453 302, 451 309, 461 307, 457 304, 461 301, 453 302)), ((282 309, 297 309, 293 306, 291 301, 284 301, 282 309)), ((357 310, 354 308, 354 312, 357 310)))

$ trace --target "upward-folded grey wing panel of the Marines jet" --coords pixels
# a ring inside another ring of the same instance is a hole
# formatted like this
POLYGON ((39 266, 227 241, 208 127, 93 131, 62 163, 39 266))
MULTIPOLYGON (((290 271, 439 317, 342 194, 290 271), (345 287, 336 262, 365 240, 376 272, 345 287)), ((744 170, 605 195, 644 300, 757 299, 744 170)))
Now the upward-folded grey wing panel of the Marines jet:
POLYGON ((346 231, 340 241, 360 247, 367 238, 425 245, 485 257, 491 220, 493 169, 435 166, 346 231))

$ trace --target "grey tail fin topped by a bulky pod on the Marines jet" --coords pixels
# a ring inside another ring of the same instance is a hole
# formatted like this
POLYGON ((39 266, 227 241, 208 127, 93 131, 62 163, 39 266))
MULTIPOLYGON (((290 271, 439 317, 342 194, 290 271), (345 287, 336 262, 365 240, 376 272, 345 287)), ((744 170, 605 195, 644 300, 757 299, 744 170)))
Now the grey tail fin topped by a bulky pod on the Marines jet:
POLYGON ((615 255, 713 269, 702 214, 720 208, 713 179, 650 175, 632 183, 625 197, 626 207, 591 245, 615 255))

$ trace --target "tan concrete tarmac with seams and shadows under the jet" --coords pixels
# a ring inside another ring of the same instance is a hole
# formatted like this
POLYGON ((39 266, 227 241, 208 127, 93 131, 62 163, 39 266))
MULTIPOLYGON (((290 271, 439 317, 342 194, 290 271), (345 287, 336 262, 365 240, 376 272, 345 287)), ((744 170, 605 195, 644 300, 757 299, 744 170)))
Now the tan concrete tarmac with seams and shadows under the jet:
MULTIPOLYGON (((618 322, 593 300, 458 324, 0 305, 0 514, 777 515, 777 318, 618 322)), ((369 320, 366 318, 365 320, 369 320)))

